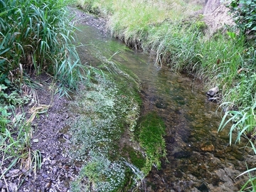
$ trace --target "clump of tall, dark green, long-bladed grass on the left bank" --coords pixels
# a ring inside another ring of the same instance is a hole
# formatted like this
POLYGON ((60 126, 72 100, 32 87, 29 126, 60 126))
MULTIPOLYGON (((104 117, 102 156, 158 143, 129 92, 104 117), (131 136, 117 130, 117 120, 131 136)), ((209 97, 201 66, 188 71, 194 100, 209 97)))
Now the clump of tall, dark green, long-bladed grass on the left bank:
POLYGON ((77 88, 83 67, 66 5, 65 0, 0 1, 0 83, 21 81, 25 71, 46 71, 60 85, 77 88))

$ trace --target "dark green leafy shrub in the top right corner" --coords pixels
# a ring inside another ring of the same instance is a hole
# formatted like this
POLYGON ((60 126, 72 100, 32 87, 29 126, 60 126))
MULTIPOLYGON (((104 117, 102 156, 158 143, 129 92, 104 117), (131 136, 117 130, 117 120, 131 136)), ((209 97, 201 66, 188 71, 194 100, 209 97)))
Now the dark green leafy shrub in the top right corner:
MULTIPOLYGON (((233 13, 235 23, 245 31, 256 31, 256 1, 233 0, 230 2, 230 11, 233 13)), ((253 32, 254 31, 254 32, 253 32)))

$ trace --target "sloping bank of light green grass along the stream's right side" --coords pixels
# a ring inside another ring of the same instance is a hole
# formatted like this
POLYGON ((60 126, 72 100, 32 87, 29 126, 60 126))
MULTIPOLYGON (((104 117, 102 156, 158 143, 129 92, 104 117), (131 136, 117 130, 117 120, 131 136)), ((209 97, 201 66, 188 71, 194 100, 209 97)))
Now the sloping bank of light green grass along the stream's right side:
POLYGON ((254 82, 254 49, 247 50, 245 38, 233 36, 231 28, 230 33, 216 33, 206 40, 203 16, 191 14, 202 9, 202 5, 167 0, 78 0, 78 4, 107 17, 112 36, 156 55, 157 63, 169 65, 177 72, 192 72, 208 87, 218 85, 223 102, 252 105, 255 91, 241 88, 241 84, 247 84, 248 78, 254 82), (248 70, 241 70, 245 68, 248 70))

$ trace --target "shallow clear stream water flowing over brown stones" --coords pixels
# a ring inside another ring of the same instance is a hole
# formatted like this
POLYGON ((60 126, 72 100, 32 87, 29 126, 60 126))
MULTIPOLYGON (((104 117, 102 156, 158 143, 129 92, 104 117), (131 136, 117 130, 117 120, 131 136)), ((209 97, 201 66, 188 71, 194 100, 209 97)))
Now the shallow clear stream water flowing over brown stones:
MULTIPOLYGON (((80 58, 99 63, 99 55, 132 70, 142 83, 142 114, 157 112, 166 124, 166 159, 153 167, 141 191, 238 191, 245 159, 238 146, 229 146, 228 129, 217 134, 218 105, 209 102, 199 80, 154 65, 148 54, 130 50, 97 28, 79 26, 80 58)), ((209 87, 210 88, 210 87, 209 87)), ((250 157, 250 156, 249 156, 250 157)))

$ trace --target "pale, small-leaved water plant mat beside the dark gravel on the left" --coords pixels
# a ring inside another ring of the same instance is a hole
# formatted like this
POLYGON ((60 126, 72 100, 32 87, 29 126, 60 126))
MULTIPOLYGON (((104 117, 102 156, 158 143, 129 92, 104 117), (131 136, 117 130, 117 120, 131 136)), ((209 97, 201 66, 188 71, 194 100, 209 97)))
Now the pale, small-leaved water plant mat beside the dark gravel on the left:
POLYGON ((130 138, 129 132, 139 117, 139 105, 133 99, 138 94, 137 88, 126 81, 127 77, 128 74, 97 75, 97 82, 80 92, 71 105, 80 117, 71 125, 70 156, 85 162, 80 175, 71 184, 73 191, 80 191, 80 188, 118 191, 137 185, 137 177, 129 171, 119 152, 122 151, 120 142, 130 138), (132 179, 130 184, 128 175, 132 179))

